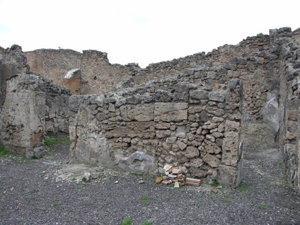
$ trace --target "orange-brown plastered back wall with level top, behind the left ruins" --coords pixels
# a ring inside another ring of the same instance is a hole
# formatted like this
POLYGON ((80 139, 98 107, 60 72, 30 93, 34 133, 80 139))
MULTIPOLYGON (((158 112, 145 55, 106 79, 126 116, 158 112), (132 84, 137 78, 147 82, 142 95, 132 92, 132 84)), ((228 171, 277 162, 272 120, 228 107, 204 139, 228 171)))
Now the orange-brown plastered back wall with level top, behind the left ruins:
POLYGON ((55 84, 63 85, 69 70, 80 68, 81 53, 71 49, 37 49, 24 52, 30 71, 40 73, 55 84))

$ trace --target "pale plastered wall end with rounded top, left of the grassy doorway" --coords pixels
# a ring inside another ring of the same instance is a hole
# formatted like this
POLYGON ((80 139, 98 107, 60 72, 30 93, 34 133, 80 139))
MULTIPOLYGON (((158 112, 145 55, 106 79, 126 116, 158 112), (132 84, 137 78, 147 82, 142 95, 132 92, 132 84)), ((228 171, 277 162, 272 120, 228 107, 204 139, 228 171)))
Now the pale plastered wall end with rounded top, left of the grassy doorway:
POLYGON ((41 77, 19 74, 6 81, 0 115, 1 144, 28 158, 43 154, 45 88, 41 77))

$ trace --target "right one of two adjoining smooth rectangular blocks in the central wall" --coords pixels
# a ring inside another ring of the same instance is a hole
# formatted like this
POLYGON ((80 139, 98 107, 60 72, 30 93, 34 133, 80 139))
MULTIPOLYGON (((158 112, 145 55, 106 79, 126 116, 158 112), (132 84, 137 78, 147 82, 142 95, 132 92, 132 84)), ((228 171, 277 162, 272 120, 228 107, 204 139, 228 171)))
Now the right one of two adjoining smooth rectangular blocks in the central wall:
POLYGON ((164 103, 154 104, 154 121, 180 122, 187 119, 187 103, 164 103))

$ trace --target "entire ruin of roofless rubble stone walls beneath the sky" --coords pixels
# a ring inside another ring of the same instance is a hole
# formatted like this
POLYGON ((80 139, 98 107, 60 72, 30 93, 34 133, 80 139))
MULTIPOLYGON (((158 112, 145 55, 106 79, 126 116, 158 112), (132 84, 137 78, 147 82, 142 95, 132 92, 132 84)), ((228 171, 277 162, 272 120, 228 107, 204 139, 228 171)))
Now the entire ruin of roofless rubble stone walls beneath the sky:
POLYGON ((243 151, 279 148, 300 193, 300 29, 140 68, 95 50, 0 48, 0 140, 38 157, 70 135, 72 162, 138 174, 170 164, 230 187, 243 151), (29 69, 30 68, 30 69, 29 69))

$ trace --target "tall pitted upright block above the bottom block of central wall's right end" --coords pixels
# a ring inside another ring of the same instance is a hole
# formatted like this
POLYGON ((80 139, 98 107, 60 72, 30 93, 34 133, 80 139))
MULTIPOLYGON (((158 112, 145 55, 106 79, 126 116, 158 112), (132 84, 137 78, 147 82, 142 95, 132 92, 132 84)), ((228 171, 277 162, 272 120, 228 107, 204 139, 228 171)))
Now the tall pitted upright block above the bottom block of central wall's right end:
POLYGON ((228 166, 236 166, 238 161, 238 145, 239 137, 237 132, 228 131, 224 133, 222 163, 228 166))

